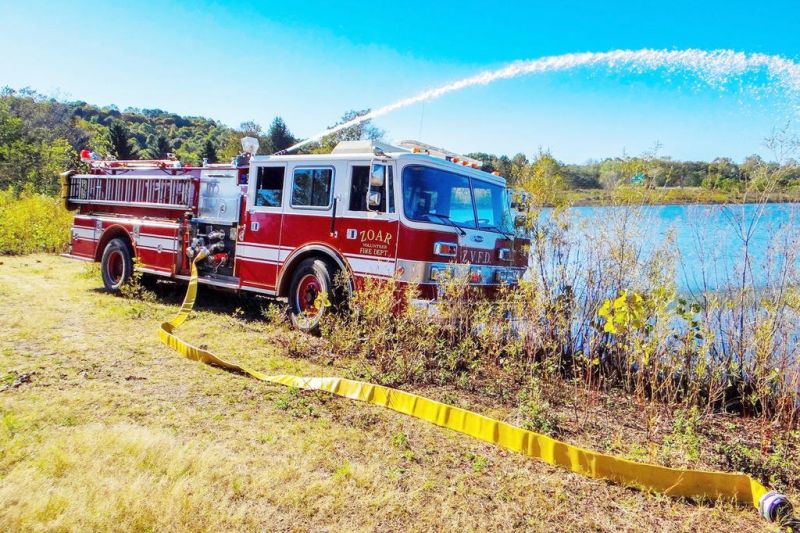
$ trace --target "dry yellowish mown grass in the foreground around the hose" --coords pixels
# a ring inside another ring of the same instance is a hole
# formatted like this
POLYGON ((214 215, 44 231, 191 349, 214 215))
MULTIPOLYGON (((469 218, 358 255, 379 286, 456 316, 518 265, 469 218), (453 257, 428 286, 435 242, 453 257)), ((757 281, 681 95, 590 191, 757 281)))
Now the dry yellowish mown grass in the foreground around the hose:
MULTIPOLYGON (((767 527, 753 509, 584 479, 377 407, 189 362, 156 335, 179 288, 126 299, 98 290, 81 263, 0 261, 3 530, 767 527)), ((201 291, 182 333, 255 368, 347 372, 320 343, 262 320, 260 305, 201 291), (298 350, 308 357, 289 357, 298 350)), ((454 389, 421 392, 516 416, 454 389)), ((613 398, 582 410, 595 423, 572 425, 568 401, 550 401, 564 438, 598 449, 647 453, 649 434, 670 427, 613 398)))

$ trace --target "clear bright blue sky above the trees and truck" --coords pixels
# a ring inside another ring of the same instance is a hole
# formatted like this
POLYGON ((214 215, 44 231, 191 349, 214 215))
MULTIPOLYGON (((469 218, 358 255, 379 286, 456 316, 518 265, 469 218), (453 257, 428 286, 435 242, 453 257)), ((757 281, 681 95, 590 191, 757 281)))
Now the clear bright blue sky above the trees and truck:
MULTIPOLYGON (((731 48, 800 61, 800 2, 19 2, 0 0, 0 86, 298 136, 346 110, 518 59, 619 48, 731 48)), ((787 95, 581 69, 470 88, 377 120, 387 139, 567 162, 769 156, 787 95)))

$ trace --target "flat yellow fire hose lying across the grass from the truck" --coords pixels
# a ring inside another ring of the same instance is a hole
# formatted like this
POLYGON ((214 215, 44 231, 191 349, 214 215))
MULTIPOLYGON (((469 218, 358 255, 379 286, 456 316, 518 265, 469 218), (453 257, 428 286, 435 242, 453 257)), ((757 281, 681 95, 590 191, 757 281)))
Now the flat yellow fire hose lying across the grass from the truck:
POLYGON ((323 390, 337 396, 380 405, 437 426, 465 433, 476 439, 513 450, 551 465, 566 468, 586 477, 607 479, 621 485, 692 499, 723 499, 752 504, 770 522, 790 517, 792 505, 776 492, 768 492, 757 480, 745 474, 667 468, 629 461, 586 450, 546 435, 528 431, 466 409, 437 402, 416 394, 381 385, 336 377, 268 376, 262 372, 229 363, 213 353, 175 336, 175 329, 191 313, 197 296, 197 267, 192 263, 189 288, 177 316, 161 324, 159 336, 185 357, 226 370, 242 372, 261 381, 306 390, 323 390))

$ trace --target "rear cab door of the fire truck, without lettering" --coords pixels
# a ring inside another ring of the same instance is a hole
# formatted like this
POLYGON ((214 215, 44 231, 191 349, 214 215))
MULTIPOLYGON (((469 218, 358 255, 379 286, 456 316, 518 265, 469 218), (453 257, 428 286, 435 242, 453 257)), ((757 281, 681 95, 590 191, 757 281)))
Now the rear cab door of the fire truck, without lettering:
POLYGON ((236 275, 242 286, 275 290, 285 178, 284 163, 257 164, 250 169, 247 210, 236 244, 236 275))

